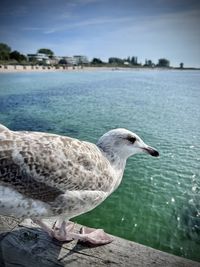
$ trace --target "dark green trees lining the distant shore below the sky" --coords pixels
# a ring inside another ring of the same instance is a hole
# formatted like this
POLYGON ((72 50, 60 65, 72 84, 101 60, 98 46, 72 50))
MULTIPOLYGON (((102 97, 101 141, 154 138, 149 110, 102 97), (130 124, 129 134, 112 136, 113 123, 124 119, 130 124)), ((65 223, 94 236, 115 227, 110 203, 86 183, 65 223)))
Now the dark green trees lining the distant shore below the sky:
MULTIPOLYGON (((48 48, 40 48, 37 50, 37 53, 45 54, 49 59, 56 58, 54 55, 54 52, 51 49, 48 48)), ((4 64, 38 64, 37 60, 35 58, 28 58, 24 54, 21 54, 17 50, 11 49, 7 44, 0 43, 0 62, 4 64)), ((40 64, 45 64, 44 62, 40 62, 40 64)), ((63 60, 61 59, 58 64, 64 64, 63 60)), ((67 64, 67 62, 65 62, 67 64)), ((83 62, 80 62, 80 64, 86 64, 83 62)), ((158 60, 158 63, 155 64, 152 62, 152 60, 145 60, 145 64, 138 63, 138 58, 135 56, 127 57, 127 58, 118 58, 118 57, 110 57, 108 59, 108 62, 102 61, 100 58, 93 58, 90 62, 88 61, 88 65, 93 66, 104 66, 104 65, 111 65, 111 66, 135 66, 135 67, 170 67, 170 61, 165 58, 161 58, 158 60)), ((181 63, 183 66, 183 63, 181 63)), ((180 64, 180 66, 181 66, 180 64)))

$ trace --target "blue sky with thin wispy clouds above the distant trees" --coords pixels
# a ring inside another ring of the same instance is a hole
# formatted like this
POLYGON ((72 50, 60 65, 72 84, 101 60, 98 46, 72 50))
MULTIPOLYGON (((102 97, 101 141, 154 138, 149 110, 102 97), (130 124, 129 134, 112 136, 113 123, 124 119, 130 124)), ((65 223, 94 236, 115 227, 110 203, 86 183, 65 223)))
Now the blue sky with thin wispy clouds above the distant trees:
POLYGON ((24 54, 200 67, 199 25, 200 0, 0 0, 0 42, 24 54))

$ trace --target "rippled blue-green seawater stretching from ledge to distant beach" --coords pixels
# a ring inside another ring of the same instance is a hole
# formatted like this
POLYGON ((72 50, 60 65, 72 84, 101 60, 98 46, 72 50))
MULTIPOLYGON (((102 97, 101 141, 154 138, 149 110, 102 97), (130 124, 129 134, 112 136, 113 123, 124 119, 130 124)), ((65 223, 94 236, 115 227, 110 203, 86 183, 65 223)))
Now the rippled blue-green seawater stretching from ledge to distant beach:
POLYGON ((96 142, 124 127, 160 152, 128 159, 120 187, 74 218, 200 261, 200 72, 0 74, 0 122, 96 142))

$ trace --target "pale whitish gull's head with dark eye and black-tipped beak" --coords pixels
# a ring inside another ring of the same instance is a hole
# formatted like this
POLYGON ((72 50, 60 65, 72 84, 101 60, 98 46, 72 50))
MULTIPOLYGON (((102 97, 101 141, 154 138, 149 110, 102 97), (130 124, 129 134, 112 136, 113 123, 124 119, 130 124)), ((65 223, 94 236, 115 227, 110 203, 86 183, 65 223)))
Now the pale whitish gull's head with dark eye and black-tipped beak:
POLYGON ((142 152, 153 157, 159 156, 158 151, 145 144, 137 134, 121 128, 105 133, 99 139, 97 146, 105 153, 114 153, 123 159, 142 152))

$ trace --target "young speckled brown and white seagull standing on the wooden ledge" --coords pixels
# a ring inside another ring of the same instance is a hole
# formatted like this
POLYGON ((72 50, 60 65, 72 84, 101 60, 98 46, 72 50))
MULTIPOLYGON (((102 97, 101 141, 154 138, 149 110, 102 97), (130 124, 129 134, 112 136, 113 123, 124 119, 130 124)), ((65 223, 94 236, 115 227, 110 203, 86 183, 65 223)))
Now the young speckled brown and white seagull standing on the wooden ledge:
POLYGON ((103 229, 69 220, 100 205, 120 185, 126 160, 158 157, 135 133, 118 128, 97 144, 57 134, 11 131, 0 124, 0 215, 30 218, 52 238, 94 245, 112 242, 103 229), (58 218, 53 227, 44 219, 58 218))

